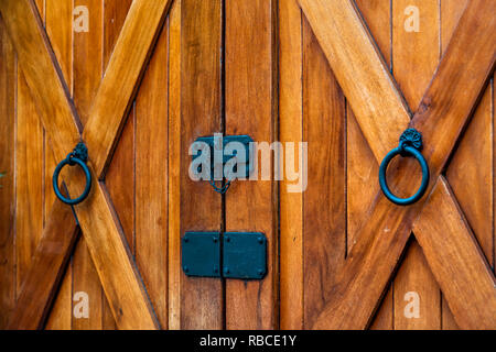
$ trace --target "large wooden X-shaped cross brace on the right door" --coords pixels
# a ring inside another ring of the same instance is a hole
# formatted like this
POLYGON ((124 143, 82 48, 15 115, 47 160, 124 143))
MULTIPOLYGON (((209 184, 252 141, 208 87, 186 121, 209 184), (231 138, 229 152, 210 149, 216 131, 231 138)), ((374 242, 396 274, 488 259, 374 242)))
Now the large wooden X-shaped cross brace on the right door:
MULTIPOLYGON (((420 108, 402 97, 352 0, 299 0, 378 163, 408 128, 419 130, 431 183, 419 204, 398 207, 380 194, 364 219, 331 301, 314 328, 364 329, 411 231, 461 328, 496 327, 495 277, 441 172, 494 70, 496 19, 490 0, 470 1, 420 108), (481 19, 483 16, 483 19, 481 19), (449 264, 448 264, 449 263, 449 264), (456 272, 451 272, 456 268, 456 272), (366 294, 364 294, 366 293, 366 294)), ((399 187, 413 189, 413 161, 399 187)))

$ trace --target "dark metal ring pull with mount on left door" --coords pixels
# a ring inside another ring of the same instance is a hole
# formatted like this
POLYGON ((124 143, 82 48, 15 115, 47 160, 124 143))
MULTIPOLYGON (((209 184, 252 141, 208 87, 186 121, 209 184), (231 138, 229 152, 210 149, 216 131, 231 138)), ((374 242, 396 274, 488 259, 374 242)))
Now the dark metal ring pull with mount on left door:
POLYGON ((91 189, 91 173, 89 172, 89 168, 86 165, 87 162, 88 162, 88 148, 86 147, 86 145, 84 143, 79 143, 76 145, 74 151, 69 155, 67 155, 67 157, 57 165, 57 167, 55 168, 55 172, 53 173, 52 183, 53 183, 53 190, 55 191, 55 196, 57 196, 57 198, 60 200, 62 200, 64 204, 66 204, 68 206, 75 206, 75 205, 80 204, 89 195, 89 190, 91 189), (79 165, 79 167, 83 168, 83 170, 85 172, 85 175, 86 175, 85 190, 76 199, 71 199, 71 198, 64 197, 61 193, 61 189, 58 188, 58 176, 61 175, 61 170, 66 165, 69 165, 69 166, 79 165))

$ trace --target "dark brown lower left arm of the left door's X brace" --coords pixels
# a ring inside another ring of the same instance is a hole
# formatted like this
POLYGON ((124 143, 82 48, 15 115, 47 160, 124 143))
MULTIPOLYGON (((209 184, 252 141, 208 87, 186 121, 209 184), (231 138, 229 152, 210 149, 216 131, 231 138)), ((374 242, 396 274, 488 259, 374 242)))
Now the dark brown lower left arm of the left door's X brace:
POLYGON ((23 277, 15 309, 9 319, 11 330, 43 327, 76 243, 78 229, 72 209, 56 201, 51 211, 58 216, 46 223, 31 268, 23 277))

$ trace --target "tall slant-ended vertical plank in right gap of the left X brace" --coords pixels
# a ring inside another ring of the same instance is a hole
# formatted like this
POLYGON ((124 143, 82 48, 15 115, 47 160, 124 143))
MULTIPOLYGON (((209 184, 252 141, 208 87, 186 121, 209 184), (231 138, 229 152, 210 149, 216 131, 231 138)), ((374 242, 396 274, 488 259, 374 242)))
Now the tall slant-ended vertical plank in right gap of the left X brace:
POLYGON ((169 21, 136 101, 136 260, 162 329, 168 328, 168 55, 169 21))

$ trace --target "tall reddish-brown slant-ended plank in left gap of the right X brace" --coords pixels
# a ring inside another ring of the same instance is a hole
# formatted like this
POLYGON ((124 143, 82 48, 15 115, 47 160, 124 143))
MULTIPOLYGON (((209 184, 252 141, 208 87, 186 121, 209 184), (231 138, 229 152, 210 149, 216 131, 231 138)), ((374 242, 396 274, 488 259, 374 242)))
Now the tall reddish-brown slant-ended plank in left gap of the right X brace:
POLYGON ((346 255, 345 112, 342 90, 303 21, 303 139, 309 142, 304 200, 304 324, 331 298, 346 255))

